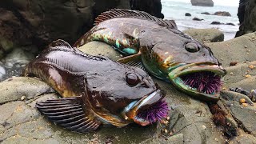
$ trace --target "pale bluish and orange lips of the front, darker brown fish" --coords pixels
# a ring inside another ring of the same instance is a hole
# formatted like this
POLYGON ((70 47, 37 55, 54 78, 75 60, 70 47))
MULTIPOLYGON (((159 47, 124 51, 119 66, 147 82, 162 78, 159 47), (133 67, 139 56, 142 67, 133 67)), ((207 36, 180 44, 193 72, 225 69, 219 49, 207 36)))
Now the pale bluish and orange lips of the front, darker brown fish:
POLYGON ((126 106, 126 108, 122 112, 122 115, 126 120, 132 120, 141 126, 149 125, 149 121, 136 118, 139 110, 141 110, 144 106, 154 105, 154 103, 161 101, 164 96, 165 95, 162 93, 161 90, 154 90, 150 94, 145 95, 140 100, 132 102, 131 106, 126 106))

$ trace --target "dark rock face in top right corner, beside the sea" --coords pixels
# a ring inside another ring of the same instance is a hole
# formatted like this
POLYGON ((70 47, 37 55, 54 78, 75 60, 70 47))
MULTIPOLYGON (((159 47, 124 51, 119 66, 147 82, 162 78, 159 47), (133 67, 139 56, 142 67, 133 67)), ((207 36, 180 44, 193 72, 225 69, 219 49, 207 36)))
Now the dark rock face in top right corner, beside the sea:
POLYGON ((256 3, 254 0, 240 0, 238 18, 240 27, 236 37, 256 31, 256 3))

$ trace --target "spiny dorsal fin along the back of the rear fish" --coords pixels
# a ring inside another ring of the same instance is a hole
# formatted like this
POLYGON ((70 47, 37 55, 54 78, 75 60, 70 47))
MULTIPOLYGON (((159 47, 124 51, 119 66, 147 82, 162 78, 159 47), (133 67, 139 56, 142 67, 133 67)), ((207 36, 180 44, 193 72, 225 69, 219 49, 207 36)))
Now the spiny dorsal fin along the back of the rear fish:
POLYGON ((159 26, 177 28, 174 20, 163 20, 162 18, 156 18, 144 11, 138 10, 123 10, 123 9, 111 9, 100 14, 95 18, 95 25, 104 22, 111 18, 140 18, 148 21, 156 22, 159 26))

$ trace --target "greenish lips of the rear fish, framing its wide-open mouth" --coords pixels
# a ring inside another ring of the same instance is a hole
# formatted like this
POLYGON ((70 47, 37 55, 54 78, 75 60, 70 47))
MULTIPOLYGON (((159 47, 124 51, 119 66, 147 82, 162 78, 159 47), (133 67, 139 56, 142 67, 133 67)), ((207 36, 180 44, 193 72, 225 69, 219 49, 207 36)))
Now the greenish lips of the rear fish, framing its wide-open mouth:
POLYGON ((222 68, 222 66, 218 66, 216 63, 212 62, 198 62, 192 64, 186 64, 179 66, 178 68, 172 70, 168 76, 170 82, 174 84, 174 86, 178 87, 179 90, 186 92, 186 94, 190 94, 194 98, 198 98, 203 101, 214 101, 217 102, 219 99, 219 93, 217 94, 205 94, 199 92, 198 90, 192 90, 189 86, 183 83, 182 75, 191 74, 200 71, 209 71, 214 74, 220 76, 221 78, 226 75, 226 70, 222 68))

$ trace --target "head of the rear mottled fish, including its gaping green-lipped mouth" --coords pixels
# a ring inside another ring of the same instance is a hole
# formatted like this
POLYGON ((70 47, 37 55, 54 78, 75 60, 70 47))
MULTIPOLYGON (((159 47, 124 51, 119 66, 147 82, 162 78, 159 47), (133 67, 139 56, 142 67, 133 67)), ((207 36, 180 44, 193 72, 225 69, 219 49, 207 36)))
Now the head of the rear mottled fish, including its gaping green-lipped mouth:
MULTIPOLYGON (((226 74, 210 47, 179 30, 152 30, 150 52, 142 50, 146 69, 179 90, 205 101, 218 101, 226 74)), ((146 40, 150 42, 149 40, 146 40)))

